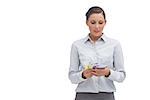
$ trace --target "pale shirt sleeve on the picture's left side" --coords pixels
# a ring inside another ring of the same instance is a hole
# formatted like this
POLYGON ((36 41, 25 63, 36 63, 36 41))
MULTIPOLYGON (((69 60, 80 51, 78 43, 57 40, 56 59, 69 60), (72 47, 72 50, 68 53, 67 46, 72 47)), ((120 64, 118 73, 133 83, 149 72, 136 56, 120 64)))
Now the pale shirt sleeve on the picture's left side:
POLYGON ((70 68, 69 68, 69 79, 73 84, 79 84, 86 79, 82 78, 82 70, 79 70, 79 54, 77 47, 72 44, 71 53, 70 53, 70 68))

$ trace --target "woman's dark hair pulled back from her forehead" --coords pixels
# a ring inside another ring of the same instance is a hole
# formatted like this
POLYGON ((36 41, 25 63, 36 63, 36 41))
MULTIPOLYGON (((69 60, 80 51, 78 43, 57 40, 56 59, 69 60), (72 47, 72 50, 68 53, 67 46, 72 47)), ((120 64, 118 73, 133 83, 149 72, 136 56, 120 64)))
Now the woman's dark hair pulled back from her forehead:
POLYGON ((86 20, 89 19, 90 15, 94 14, 94 13, 102 13, 105 21, 106 21, 106 16, 105 16, 105 12, 104 10, 101 8, 101 7, 98 7, 98 6, 93 6, 91 7, 87 13, 85 14, 86 15, 86 20))

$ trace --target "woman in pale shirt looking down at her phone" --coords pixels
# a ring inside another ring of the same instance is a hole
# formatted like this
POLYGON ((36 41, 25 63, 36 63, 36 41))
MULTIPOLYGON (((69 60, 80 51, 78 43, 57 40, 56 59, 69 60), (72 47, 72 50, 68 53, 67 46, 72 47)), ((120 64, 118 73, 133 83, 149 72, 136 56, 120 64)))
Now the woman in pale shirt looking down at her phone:
POLYGON ((103 33, 105 12, 98 6, 86 13, 90 33, 72 44, 69 79, 78 84, 75 100, 115 100, 113 81, 125 79, 120 43, 103 33))

